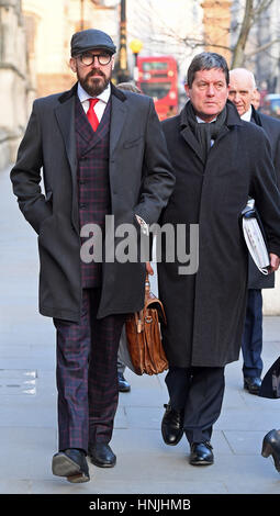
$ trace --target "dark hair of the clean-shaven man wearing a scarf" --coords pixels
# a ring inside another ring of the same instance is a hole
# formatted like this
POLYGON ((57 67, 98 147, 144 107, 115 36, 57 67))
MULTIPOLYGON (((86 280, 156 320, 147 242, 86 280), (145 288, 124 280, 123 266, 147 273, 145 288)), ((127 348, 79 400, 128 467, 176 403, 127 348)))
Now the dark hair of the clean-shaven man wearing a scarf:
POLYGON ((194 81, 195 72, 199 70, 212 70, 212 68, 219 68, 225 75, 227 86, 229 85, 229 72, 225 58, 214 52, 202 52, 193 57, 187 74, 187 83, 189 88, 192 87, 194 81))

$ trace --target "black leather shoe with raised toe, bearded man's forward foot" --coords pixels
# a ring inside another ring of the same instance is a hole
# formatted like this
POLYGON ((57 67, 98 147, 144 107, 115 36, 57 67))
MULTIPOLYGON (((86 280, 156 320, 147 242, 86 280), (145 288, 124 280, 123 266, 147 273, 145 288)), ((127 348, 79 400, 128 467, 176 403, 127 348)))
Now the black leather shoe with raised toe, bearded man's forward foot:
POLYGON ((79 483, 90 480, 86 453, 76 448, 55 453, 52 470, 57 476, 66 476, 68 482, 79 483))

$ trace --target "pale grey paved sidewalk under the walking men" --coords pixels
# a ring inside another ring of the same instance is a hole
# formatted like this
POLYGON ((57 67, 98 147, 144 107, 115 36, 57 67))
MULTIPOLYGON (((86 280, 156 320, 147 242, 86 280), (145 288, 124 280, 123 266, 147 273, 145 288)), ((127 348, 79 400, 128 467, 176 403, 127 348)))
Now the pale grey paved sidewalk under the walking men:
MULTIPOLYGON (((223 412, 215 425, 215 463, 194 468, 184 439, 166 446, 160 422, 164 377, 125 374, 112 448, 113 469, 90 465, 91 482, 70 484, 52 474, 56 452, 55 332, 37 314, 36 235, 0 172, 0 493, 7 494, 280 494, 271 458, 260 456, 265 434, 280 427, 280 400, 243 390, 242 362, 226 368, 223 412)), ((265 318, 265 371, 279 356, 280 317, 265 318)))

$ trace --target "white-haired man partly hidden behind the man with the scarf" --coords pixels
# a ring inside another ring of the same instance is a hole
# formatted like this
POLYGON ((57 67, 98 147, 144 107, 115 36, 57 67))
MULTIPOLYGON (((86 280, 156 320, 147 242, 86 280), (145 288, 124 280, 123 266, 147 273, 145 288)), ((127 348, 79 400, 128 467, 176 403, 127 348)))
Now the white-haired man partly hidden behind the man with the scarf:
MULTIPOLYGON (((272 149, 276 180, 280 184, 280 121, 257 112, 253 105, 256 81, 251 71, 235 68, 229 71, 229 100, 235 104, 242 120, 264 128, 272 149)), ((258 394, 262 372, 262 295, 261 289, 275 287, 275 274, 264 276, 249 257, 248 298, 245 327, 242 337, 244 388, 258 394)))

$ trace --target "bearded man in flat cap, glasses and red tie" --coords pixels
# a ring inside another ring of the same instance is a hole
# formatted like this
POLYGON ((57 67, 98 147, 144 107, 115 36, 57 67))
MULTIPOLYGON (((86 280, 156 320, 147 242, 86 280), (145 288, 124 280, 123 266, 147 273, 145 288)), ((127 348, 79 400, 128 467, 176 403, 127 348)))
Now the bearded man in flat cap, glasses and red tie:
MULTIPOLYGON (((70 67, 78 81, 70 91, 35 100, 11 171, 20 209, 38 234, 40 312, 54 318, 57 333, 53 473, 70 482, 90 479, 87 455, 96 465, 115 464, 109 442, 119 340, 126 314, 144 305, 145 262, 102 253, 108 220, 116 229, 131 225, 139 239, 175 182, 153 100, 111 82, 114 53, 102 31, 74 34, 70 67)), ((113 236, 114 250, 120 238, 113 236)))

